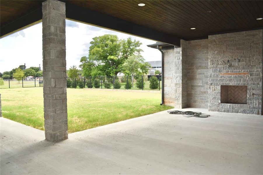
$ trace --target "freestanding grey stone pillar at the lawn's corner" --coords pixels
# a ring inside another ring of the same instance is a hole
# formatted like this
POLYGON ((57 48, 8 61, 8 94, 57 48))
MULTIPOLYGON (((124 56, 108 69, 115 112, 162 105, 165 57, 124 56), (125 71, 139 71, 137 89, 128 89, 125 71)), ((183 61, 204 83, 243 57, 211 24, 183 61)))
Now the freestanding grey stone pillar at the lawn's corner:
POLYGON ((54 142, 68 138, 65 11, 61 1, 42 4, 45 136, 54 142))

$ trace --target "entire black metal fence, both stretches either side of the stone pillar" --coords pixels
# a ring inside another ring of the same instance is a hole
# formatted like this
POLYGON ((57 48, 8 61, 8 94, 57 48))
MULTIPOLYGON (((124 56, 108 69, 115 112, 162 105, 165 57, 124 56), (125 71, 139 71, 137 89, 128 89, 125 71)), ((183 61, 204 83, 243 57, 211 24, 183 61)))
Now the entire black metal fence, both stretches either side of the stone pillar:
MULTIPOLYGON (((67 78, 67 88, 161 90, 161 75, 67 78)), ((43 87, 43 78, 0 78, 0 89, 43 87)))

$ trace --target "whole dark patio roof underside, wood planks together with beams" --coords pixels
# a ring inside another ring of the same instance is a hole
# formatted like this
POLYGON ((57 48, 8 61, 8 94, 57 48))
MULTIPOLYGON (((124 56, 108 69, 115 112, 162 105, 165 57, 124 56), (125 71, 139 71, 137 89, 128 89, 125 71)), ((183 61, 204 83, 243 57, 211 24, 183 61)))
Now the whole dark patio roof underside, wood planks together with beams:
MULTIPOLYGON (((42 0, 0 3, 1 38, 41 22, 42 0)), ((63 1, 66 17, 162 43, 263 28, 263 1, 63 1), (138 3, 145 3, 139 7, 138 3), (195 30, 190 28, 195 27, 195 30)), ((162 46, 166 47, 166 46, 162 46)))

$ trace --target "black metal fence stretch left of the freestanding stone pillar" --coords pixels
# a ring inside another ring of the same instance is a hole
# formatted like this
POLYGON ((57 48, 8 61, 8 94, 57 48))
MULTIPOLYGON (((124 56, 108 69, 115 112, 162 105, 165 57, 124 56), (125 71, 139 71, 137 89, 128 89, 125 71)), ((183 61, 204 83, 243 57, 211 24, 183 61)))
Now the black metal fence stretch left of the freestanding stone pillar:
POLYGON ((43 78, 0 78, 0 89, 43 87, 43 78))

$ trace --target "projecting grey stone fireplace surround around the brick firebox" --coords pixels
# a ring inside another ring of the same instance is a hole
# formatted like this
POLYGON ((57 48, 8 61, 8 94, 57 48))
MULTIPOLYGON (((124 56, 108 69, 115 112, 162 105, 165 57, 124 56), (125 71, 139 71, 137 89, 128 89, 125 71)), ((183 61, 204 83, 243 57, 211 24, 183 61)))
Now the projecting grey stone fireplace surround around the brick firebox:
POLYGON ((261 114, 262 112, 262 29, 208 38, 209 111, 261 114), (229 60, 228 67, 226 64, 229 60), (241 73, 248 75, 220 75, 241 73), (247 104, 220 103, 221 85, 247 85, 247 104))

